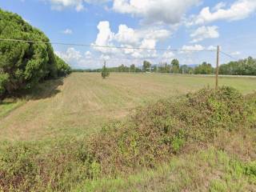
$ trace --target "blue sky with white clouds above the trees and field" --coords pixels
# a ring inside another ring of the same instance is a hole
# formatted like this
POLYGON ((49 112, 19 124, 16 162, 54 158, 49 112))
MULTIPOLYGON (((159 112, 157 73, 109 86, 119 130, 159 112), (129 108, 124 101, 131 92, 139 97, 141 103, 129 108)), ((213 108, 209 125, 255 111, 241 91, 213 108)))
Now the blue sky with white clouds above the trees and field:
POLYGON ((0 7, 20 14, 51 42, 90 45, 53 45, 73 68, 173 58, 215 66, 218 45, 232 56, 221 54, 221 63, 256 58, 256 0, 0 0, 0 7))

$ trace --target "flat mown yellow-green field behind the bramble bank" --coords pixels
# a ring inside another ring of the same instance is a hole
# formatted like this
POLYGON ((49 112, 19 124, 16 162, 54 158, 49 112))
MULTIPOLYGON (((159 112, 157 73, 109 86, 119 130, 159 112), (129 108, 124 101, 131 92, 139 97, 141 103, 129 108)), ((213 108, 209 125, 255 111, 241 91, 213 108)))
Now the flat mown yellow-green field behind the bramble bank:
MULTIPOLYGON (((256 90, 256 78, 220 78, 243 94, 256 90)), ((37 141, 79 137, 100 130, 102 124, 125 117, 136 106, 159 98, 214 86, 214 77, 170 74, 74 73, 51 80, 23 99, 0 105, 0 140, 37 141)))

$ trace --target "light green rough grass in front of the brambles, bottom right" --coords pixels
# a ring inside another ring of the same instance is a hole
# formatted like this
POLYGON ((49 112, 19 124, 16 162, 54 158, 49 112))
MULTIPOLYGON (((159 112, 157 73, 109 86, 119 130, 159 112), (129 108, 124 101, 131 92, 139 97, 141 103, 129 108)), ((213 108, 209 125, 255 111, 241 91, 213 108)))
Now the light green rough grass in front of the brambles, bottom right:
POLYGON ((73 191, 255 191, 256 175, 248 165, 210 148, 172 158, 155 170, 128 177, 88 180, 73 191))

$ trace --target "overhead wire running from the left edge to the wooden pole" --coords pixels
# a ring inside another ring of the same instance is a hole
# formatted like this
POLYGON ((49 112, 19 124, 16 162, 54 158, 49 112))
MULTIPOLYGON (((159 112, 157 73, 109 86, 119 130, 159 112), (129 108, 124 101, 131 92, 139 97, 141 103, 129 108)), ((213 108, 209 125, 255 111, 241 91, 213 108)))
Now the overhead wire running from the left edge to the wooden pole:
POLYGON ((79 44, 79 43, 64 43, 64 42, 42 42, 42 41, 31 41, 13 38, 0 38, 0 41, 5 42, 30 42, 30 43, 44 43, 50 45, 61 45, 61 46, 87 46, 95 48, 110 48, 110 49, 121 49, 121 50, 162 50, 162 51, 184 51, 184 52, 214 52, 215 50, 185 50, 185 49, 163 49, 163 48, 142 48, 142 47, 122 47, 122 46, 98 46, 94 44, 79 44))

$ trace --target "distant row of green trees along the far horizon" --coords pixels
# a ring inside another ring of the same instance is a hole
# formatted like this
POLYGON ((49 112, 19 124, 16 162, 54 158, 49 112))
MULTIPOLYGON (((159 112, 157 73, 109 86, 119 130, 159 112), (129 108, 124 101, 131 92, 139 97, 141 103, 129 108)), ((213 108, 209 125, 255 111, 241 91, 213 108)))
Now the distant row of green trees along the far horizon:
MULTIPOLYGON (((216 69, 208 62, 202 62, 198 66, 180 65, 178 59, 173 59, 170 64, 162 62, 153 65, 148 61, 142 63, 142 67, 120 65, 117 67, 107 68, 109 72, 126 72, 126 73, 172 73, 172 74, 215 74, 216 69)), ((102 72, 102 69, 96 70, 74 70, 75 72, 102 72)), ((238 62, 228 62, 219 67, 219 74, 224 75, 256 75, 256 59, 246 58, 238 62)))

